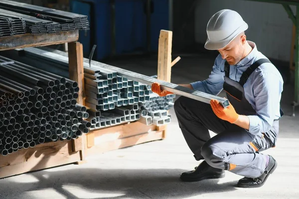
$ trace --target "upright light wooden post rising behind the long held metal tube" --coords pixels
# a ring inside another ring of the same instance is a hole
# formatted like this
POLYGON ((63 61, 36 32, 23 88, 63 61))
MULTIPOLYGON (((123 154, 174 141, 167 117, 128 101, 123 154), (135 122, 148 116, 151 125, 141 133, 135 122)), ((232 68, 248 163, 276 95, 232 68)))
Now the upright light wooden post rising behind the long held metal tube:
POLYGON ((172 31, 161 30, 158 46, 158 79, 170 82, 172 31))

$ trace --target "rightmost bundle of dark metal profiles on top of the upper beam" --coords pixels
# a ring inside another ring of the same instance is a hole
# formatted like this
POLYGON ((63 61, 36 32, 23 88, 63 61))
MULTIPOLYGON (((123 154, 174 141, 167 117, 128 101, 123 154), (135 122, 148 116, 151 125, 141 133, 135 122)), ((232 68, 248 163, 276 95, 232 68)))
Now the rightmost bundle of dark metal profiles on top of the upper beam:
POLYGON ((86 15, 41 7, 11 0, 0 0, 0 8, 56 22, 55 31, 89 30, 89 21, 86 15))

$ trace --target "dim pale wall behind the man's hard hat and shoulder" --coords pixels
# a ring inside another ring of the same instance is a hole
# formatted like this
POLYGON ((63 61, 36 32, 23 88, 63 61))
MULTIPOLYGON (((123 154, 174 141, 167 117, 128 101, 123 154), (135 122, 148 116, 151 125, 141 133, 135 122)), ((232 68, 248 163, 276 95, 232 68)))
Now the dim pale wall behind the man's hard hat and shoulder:
MULTIPOLYGON (((197 0, 195 8, 195 42, 206 41, 206 24, 221 9, 233 9, 248 23, 247 39, 269 58, 290 60, 292 21, 281 4, 250 0, 197 0)), ((294 10, 295 7, 292 7, 294 10)), ((295 10, 294 10, 295 11, 295 10)), ((296 13, 296 12, 294 12, 296 13)))

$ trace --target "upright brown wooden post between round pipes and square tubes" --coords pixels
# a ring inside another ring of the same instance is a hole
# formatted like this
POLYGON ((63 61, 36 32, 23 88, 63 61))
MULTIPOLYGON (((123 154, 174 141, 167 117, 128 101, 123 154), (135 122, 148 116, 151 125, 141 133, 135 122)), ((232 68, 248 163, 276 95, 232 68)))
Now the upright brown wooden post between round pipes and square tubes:
MULTIPOLYGON (((79 97, 77 103, 85 105, 84 98, 84 67, 83 67, 83 46, 79 42, 68 43, 69 75, 70 79, 78 82, 79 97)), ((85 159, 85 134, 73 140, 73 151, 80 151, 81 161, 85 159)))

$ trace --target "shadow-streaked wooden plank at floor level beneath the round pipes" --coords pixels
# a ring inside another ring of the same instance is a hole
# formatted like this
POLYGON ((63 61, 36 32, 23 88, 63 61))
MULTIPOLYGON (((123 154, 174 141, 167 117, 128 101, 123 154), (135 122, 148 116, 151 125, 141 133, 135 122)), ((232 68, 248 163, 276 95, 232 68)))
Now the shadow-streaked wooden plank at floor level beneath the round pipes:
POLYGON ((58 141, 21 149, 0 156, 0 178, 47 169, 80 161, 80 153, 72 151, 71 141, 58 141))

